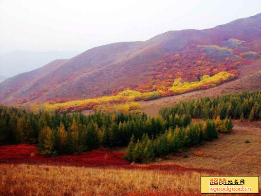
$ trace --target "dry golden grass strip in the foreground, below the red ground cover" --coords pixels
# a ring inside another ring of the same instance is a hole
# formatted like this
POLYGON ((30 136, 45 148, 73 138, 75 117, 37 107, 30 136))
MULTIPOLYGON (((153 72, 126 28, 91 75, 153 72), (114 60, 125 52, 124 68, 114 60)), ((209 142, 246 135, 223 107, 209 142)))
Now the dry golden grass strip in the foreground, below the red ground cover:
POLYGON ((2 196, 116 196, 149 192, 195 195, 200 192, 200 175, 209 174, 24 164, 3 164, 0 169, 2 196))

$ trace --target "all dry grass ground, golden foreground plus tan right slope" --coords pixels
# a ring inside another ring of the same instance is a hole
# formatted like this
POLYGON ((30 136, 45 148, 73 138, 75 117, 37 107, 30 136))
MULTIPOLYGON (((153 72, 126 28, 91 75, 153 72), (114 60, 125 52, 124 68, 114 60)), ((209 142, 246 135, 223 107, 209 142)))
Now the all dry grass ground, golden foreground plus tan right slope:
POLYGON ((200 195, 200 176, 261 176, 261 129, 251 126, 238 123, 229 135, 159 159, 153 165, 86 168, 1 164, 0 195, 200 195), (183 158, 185 153, 188 158, 183 158))

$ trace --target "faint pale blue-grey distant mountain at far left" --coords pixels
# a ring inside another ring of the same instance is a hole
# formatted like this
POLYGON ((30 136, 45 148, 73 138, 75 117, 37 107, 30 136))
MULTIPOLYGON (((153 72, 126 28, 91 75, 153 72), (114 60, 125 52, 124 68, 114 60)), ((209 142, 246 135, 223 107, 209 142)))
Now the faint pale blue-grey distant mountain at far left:
POLYGON ((77 55, 70 51, 14 51, 0 54, 0 74, 16 76, 23 72, 32 71, 56 59, 69 59, 77 55))

